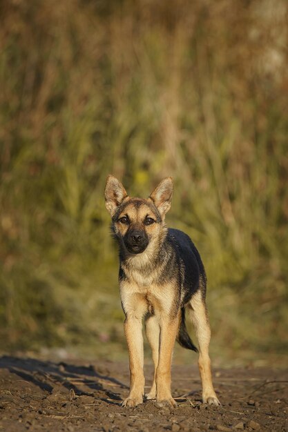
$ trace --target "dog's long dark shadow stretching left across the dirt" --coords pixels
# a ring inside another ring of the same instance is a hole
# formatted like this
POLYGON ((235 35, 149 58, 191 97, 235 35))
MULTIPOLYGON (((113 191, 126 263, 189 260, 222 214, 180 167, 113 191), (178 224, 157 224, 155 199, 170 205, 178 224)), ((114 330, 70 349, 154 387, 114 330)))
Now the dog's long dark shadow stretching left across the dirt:
POLYGON ((0 369, 8 369, 26 382, 31 382, 45 393, 72 392, 75 397, 94 396, 107 404, 120 404, 118 390, 128 389, 115 377, 99 373, 94 366, 77 366, 65 362, 41 361, 33 358, 0 357, 0 369), (110 387, 110 389, 107 389, 110 387))

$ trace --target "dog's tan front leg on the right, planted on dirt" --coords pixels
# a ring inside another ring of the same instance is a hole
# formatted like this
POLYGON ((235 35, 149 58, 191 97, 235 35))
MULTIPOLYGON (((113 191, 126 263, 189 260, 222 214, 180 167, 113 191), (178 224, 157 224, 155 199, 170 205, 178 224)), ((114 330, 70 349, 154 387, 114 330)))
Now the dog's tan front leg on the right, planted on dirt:
POLYGON ((157 402, 177 406, 171 395, 171 362, 179 326, 179 317, 160 320, 160 355, 156 371, 157 402))

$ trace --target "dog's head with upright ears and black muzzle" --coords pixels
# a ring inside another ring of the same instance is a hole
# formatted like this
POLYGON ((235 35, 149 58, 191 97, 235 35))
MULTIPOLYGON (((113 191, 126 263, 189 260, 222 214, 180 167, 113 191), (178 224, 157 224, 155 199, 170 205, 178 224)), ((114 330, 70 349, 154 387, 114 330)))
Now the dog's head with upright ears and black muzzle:
POLYGON ((160 181, 148 199, 129 197, 119 180, 113 175, 107 177, 106 208, 112 217, 113 231, 128 253, 142 253, 160 237, 172 193, 171 177, 160 181))

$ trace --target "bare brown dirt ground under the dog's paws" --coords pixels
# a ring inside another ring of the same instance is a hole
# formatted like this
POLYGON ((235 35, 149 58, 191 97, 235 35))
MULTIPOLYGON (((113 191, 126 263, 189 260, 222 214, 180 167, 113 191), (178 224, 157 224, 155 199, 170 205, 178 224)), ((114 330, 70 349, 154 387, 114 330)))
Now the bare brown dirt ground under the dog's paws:
POLYGON ((214 370, 222 406, 201 404, 195 366, 173 366, 175 409, 122 408, 128 382, 126 363, 2 356, 0 431, 288 431, 288 370, 214 370))

